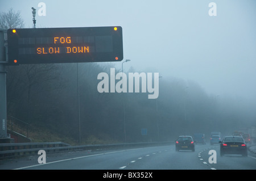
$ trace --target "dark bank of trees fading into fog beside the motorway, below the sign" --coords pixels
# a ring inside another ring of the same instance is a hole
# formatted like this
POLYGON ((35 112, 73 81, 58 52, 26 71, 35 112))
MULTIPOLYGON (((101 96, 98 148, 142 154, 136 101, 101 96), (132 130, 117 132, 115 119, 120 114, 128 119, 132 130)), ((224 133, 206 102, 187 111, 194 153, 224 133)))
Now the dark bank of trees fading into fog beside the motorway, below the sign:
POLYGON ((79 91, 77 64, 7 67, 8 115, 77 141, 81 135, 82 142, 91 136, 116 142, 167 141, 179 134, 231 131, 253 120, 241 101, 208 95, 196 82, 178 78, 160 79, 158 99, 148 99, 148 92, 100 93, 97 76, 114 65, 78 65, 79 91))

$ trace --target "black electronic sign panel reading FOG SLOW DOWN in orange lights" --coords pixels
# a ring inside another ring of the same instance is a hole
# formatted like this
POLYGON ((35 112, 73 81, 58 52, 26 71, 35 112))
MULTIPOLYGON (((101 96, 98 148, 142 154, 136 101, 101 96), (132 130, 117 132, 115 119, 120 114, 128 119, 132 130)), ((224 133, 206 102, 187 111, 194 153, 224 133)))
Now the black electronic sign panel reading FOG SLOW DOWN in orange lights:
POLYGON ((17 28, 7 31, 9 64, 123 60, 122 27, 17 28))

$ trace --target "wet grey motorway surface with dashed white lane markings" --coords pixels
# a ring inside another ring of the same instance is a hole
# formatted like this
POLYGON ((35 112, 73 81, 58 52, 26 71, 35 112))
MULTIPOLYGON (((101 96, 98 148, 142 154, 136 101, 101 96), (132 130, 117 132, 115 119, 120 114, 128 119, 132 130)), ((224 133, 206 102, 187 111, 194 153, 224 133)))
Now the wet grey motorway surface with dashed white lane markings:
POLYGON ((175 145, 127 150, 75 151, 39 155, 0 162, 0 169, 30 170, 255 170, 256 157, 249 153, 220 157, 219 145, 196 145, 196 151, 175 151, 175 145), (209 150, 216 150, 217 163, 209 163, 209 150))

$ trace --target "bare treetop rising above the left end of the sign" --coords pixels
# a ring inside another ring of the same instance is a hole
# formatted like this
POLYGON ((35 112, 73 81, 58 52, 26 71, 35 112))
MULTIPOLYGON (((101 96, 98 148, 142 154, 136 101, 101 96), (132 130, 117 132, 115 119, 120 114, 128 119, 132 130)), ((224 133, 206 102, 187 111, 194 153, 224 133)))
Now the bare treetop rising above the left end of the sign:
POLYGON ((15 12, 12 8, 8 12, 0 12, 0 28, 22 28, 24 22, 20 12, 15 12))

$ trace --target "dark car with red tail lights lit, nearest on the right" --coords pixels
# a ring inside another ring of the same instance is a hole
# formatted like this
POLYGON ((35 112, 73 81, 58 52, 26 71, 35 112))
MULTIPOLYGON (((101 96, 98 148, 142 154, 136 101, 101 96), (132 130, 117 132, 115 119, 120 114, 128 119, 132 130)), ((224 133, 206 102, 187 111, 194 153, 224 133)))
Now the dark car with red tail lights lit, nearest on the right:
POLYGON ((247 145, 241 136, 225 136, 220 141, 220 155, 242 154, 247 157, 247 145))

